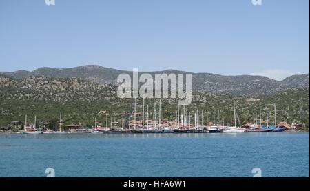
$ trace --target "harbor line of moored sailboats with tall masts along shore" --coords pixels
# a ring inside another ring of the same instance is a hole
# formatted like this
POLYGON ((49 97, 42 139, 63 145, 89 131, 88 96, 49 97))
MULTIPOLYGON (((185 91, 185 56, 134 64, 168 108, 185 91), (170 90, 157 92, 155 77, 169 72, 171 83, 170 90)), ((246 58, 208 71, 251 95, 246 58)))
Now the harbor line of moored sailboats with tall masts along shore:
MULTIPOLYGON (((99 114, 105 115, 105 125, 100 123, 96 117, 94 117, 94 125, 91 127, 83 126, 82 124, 65 124, 62 118, 62 114, 59 114, 59 119, 52 129, 48 123, 39 123, 37 117, 34 116, 33 123, 28 122, 28 116, 25 115, 25 122, 23 129, 18 130, 16 133, 23 134, 77 134, 77 133, 92 133, 92 134, 154 134, 154 133, 249 133, 249 132, 285 132, 285 131, 307 131, 307 128, 298 128, 298 124, 287 124, 285 122, 277 123, 276 117, 276 105, 273 107, 273 119, 269 119, 268 107, 265 109, 265 119, 262 116, 262 107, 255 107, 253 121, 248 123, 240 122, 236 105, 232 105, 232 112, 234 119, 231 121, 225 121, 224 115, 220 117, 218 111, 218 120, 216 120, 214 114, 214 120, 209 119, 209 112, 203 110, 189 111, 185 106, 176 106, 176 113, 172 113, 174 116, 172 120, 163 118, 162 103, 159 99, 154 101, 154 107, 152 108, 152 114, 150 114, 149 105, 145 104, 145 100, 142 101, 141 111, 137 110, 136 99, 134 99, 134 108, 132 111, 121 111, 118 114, 121 118, 117 119, 116 112, 114 116, 108 117, 106 111, 99 112, 99 114), (207 117, 205 115, 207 114, 207 117), (110 118, 110 120, 109 120, 110 118), (41 124, 41 125, 40 125, 41 124), (58 128, 57 128, 57 127, 58 128), (57 130, 55 130, 57 129, 57 130)), ((19 122, 21 123, 21 122, 19 122)))

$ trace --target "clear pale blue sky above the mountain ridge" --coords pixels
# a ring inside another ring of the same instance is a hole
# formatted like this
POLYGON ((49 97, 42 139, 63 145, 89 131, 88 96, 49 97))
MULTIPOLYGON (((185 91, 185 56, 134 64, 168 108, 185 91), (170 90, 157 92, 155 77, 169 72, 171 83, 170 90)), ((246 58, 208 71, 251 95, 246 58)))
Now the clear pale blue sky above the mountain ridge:
POLYGON ((0 71, 309 73, 309 0, 0 0, 0 71))

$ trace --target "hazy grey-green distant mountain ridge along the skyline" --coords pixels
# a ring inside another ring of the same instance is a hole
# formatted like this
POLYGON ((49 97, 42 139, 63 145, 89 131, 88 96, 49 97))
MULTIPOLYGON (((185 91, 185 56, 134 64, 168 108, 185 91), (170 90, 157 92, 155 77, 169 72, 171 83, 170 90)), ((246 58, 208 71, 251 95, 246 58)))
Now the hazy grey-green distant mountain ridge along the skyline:
MULTIPOLYGON (((14 79, 25 79, 32 76, 44 76, 54 78, 75 77, 96 83, 116 83, 119 74, 127 73, 132 75, 132 71, 116 70, 104 68, 102 66, 89 65, 76 68, 39 68, 32 72, 20 70, 17 72, 0 72, 0 75, 12 77, 14 79)), ((141 74, 143 72, 140 72, 141 74)), ((164 70, 155 73, 187 73, 178 70, 164 70)), ((293 75, 283 81, 276 81, 261 76, 223 76, 211 73, 192 73, 192 88, 194 92, 215 92, 235 95, 258 95, 274 94, 289 88, 309 88, 309 74, 293 75)))

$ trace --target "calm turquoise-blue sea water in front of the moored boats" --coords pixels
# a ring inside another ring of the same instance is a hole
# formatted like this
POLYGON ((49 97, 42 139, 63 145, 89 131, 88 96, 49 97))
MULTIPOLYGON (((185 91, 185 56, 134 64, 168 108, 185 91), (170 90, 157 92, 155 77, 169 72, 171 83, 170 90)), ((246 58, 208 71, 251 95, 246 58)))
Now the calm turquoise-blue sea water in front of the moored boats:
POLYGON ((309 132, 0 134, 0 177, 309 177, 309 132))

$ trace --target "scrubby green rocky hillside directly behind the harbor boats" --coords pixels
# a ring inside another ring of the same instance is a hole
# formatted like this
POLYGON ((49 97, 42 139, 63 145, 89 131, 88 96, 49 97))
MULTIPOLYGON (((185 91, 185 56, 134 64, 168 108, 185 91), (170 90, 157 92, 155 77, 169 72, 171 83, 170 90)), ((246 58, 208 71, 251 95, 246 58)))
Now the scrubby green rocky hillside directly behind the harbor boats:
MULTIPOLYGON (((12 79, 0 77, 0 126, 10 121, 24 121, 28 114, 28 121, 50 121, 57 119, 62 113, 66 124, 81 123, 94 125, 94 117, 99 123, 105 124, 105 114, 108 119, 121 120, 121 111, 125 111, 125 120, 128 113, 134 110, 134 99, 119 99, 116 96, 116 86, 112 84, 95 83, 79 78, 54 79, 49 77, 28 77, 12 79)), ((154 101, 147 99, 149 116, 153 116, 154 101)), ((137 110, 142 111, 142 99, 137 99, 137 110)), ((234 95, 213 92, 194 92, 192 104, 186 107, 187 111, 198 109, 205 112, 204 120, 215 123, 224 115, 225 123, 234 121, 233 104, 242 123, 253 122, 255 107, 262 108, 262 117, 265 120, 265 107, 269 107, 270 121, 273 121, 273 104, 277 106, 277 120, 287 123, 309 124, 309 88, 287 89, 272 95, 234 95), (208 114, 207 114, 208 112, 208 114)), ((158 104, 157 104, 158 105, 158 104)), ((176 99, 162 99, 162 119, 176 118, 176 99)), ((158 108, 157 108, 158 110, 158 108)), ((110 123, 110 122, 109 122, 110 123)))

